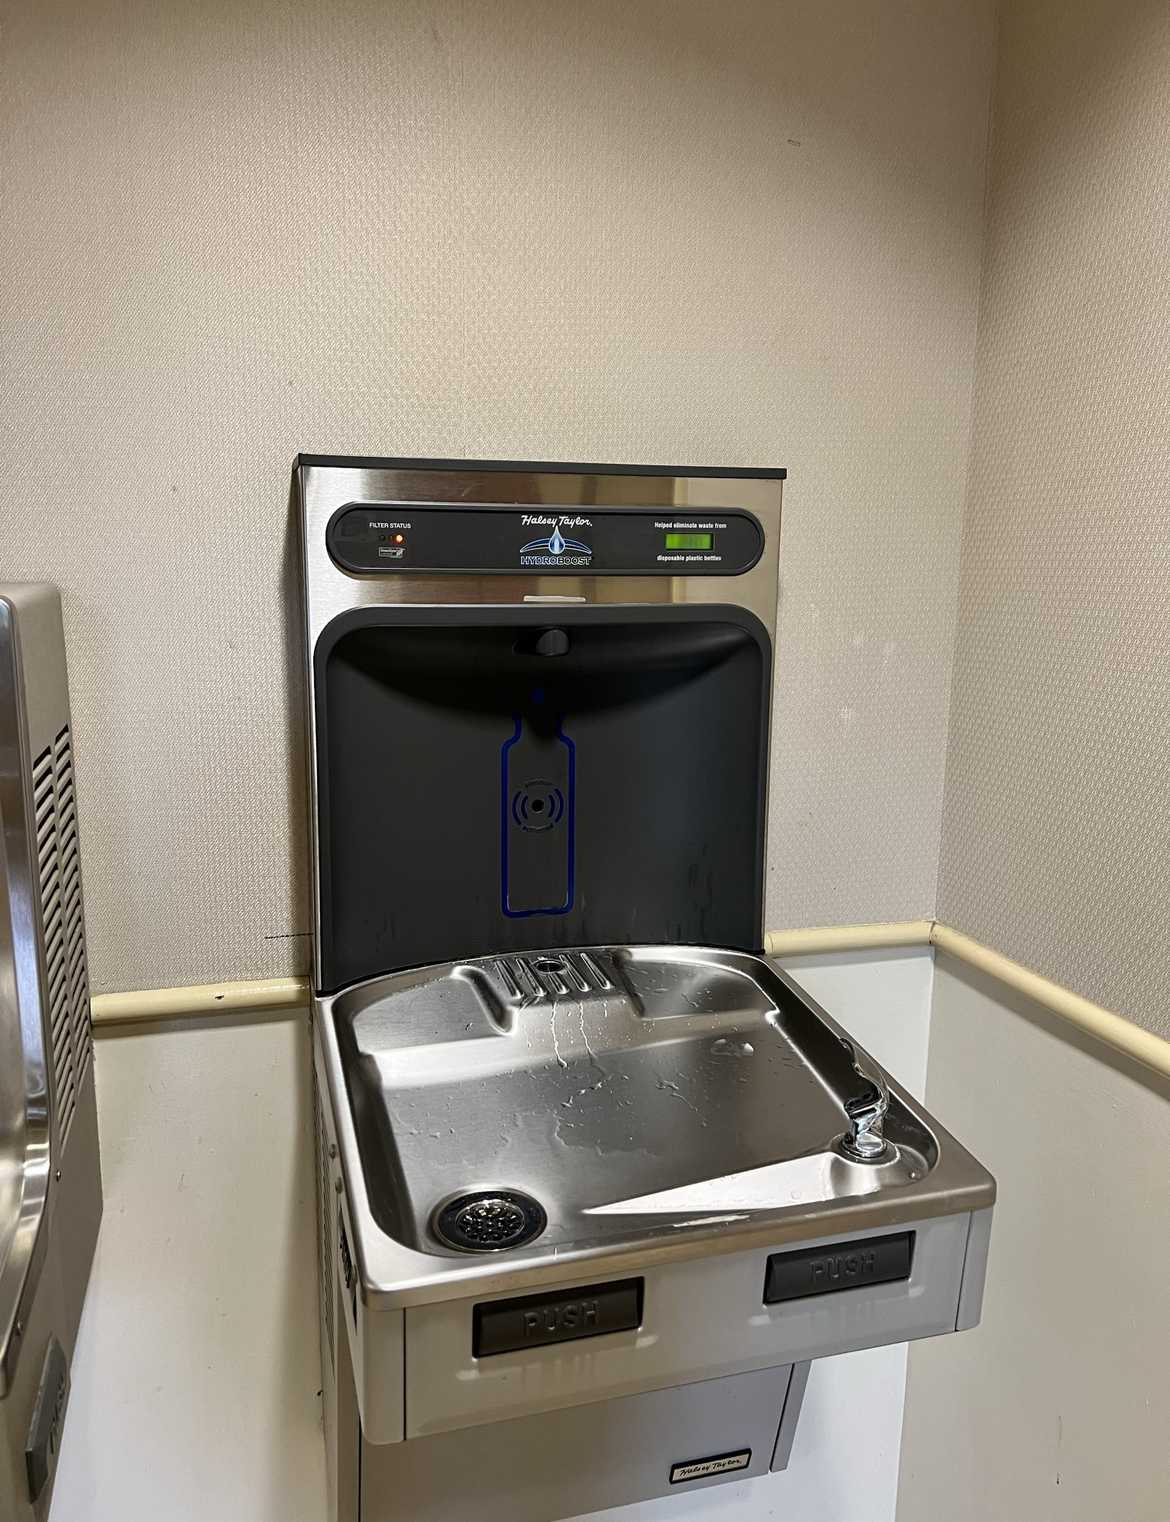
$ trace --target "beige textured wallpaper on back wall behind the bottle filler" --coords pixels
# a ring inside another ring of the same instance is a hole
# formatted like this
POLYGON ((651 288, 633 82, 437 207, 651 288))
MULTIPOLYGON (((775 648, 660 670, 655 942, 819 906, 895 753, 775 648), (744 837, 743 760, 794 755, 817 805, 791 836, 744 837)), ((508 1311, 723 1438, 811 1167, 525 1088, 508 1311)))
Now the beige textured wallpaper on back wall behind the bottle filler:
POLYGON ((97 989, 306 959, 298 449, 784 464, 770 922, 934 904, 990 0, 0 0, 97 989))

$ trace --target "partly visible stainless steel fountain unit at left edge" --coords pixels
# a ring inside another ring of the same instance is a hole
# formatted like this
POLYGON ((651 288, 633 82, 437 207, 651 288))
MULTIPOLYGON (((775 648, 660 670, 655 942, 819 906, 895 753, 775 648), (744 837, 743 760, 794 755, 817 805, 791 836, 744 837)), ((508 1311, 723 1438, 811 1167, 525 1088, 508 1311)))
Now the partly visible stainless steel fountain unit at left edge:
POLYGON ((0 584, 0 1513, 47 1514, 102 1215, 61 603, 0 584))

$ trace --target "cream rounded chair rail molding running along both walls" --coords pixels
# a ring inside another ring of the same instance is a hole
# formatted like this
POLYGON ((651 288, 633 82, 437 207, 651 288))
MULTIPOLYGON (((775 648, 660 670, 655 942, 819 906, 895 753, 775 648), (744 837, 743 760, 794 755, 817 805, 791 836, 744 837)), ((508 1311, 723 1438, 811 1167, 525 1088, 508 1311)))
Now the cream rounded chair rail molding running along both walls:
MULTIPOLYGON (((875 925, 826 925, 819 930, 768 930, 764 950, 773 957, 817 956, 829 951, 873 951, 882 947, 934 947, 978 968, 1006 988, 1022 994, 1071 1026, 1103 1041, 1143 1067, 1170 1078, 1170 1041, 1135 1026, 1132 1020, 1082 998, 1070 988, 972 941, 937 919, 901 919, 875 925)), ((193 988, 148 988, 129 994, 97 994, 93 1023, 99 1035, 116 1027, 157 1024, 189 1017, 262 1014, 303 1009, 309 1001, 306 977, 262 977, 239 983, 199 983, 193 988)))

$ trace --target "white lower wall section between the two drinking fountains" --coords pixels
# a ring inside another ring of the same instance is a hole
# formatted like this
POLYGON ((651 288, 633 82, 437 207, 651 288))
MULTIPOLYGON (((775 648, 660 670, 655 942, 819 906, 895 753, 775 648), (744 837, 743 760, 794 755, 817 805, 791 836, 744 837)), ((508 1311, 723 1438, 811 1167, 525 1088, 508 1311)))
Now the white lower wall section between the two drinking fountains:
POLYGON ((303 1017, 96 1046, 105 1216, 50 1522, 323 1522, 303 1017))

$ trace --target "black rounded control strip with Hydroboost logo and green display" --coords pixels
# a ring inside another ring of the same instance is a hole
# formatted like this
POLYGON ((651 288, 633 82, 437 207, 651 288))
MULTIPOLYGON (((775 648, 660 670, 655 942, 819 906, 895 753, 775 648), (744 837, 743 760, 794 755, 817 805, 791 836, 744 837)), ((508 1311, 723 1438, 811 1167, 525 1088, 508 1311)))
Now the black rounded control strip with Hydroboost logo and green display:
POLYGON ((361 502, 333 514, 326 543, 354 575, 742 575, 764 530, 742 508, 361 502))

